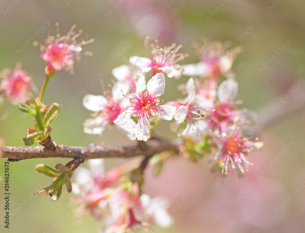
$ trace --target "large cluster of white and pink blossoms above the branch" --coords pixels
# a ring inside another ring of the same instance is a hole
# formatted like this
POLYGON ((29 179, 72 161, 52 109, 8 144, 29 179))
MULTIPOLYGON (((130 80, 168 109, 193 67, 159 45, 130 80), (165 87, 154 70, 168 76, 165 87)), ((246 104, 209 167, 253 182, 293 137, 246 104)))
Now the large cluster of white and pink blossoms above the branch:
MULTIPOLYGON (((263 144, 257 140, 252 142, 246 136, 244 124, 254 123, 255 117, 249 119, 252 112, 237 109, 242 90, 231 67, 241 48, 227 52, 229 42, 210 42, 206 38, 202 41, 203 45, 195 44, 200 62, 182 66, 177 62, 186 56, 178 53, 180 46, 160 48, 157 44, 150 45, 146 38, 148 57, 133 56, 129 65, 114 68, 112 73, 119 81, 111 94, 84 97, 84 106, 95 111, 93 118, 84 123, 85 132, 101 134, 107 125, 115 125, 131 140, 147 141, 160 120, 173 119, 170 129, 185 141, 191 140, 192 147, 204 142, 205 148, 199 154, 213 151, 216 156, 212 164, 217 164, 222 174, 228 173, 228 164, 244 173, 244 166, 251 165, 246 159, 247 153, 260 149, 263 144), (149 71, 146 82, 144 75, 149 71), (165 90, 165 76, 178 79, 182 75, 192 76, 182 97, 166 103, 160 100, 165 90)), ((188 154, 189 150, 192 148, 181 148, 181 153, 188 154)))

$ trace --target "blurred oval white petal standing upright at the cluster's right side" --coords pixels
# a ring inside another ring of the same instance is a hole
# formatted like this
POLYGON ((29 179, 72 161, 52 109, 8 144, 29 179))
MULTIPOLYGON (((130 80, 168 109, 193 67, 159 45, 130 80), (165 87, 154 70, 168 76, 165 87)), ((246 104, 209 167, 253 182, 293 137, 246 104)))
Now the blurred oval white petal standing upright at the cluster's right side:
POLYGON ((221 82, 217 89, 217 97, 221 103, 232 102, 235 100, 238 91, 238 83, 229 78, 221 82))

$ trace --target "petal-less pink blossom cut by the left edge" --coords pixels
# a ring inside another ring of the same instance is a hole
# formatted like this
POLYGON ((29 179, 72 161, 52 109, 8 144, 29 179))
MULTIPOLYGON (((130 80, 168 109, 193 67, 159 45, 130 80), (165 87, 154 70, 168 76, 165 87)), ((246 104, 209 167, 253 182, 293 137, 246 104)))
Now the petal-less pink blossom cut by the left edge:
POLYGON ((25 101, 29 97, 30 87, 33 85, 33 79, 19 67, 14 70, 5 69, 1 73, 0 92, 9 100, 25 101))

